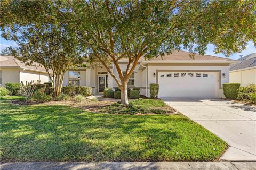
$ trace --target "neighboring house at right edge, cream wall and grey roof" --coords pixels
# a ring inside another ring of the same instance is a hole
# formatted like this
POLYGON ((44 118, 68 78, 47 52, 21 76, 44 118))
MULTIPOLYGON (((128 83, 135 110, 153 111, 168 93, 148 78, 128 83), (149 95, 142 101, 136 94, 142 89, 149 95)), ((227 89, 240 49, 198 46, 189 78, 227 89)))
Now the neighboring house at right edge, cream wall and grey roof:
POLYGON ((256 53, 241 57, 239 63, 230 66, 230 82, 240 83, 242 87, 256 84, 256 53))

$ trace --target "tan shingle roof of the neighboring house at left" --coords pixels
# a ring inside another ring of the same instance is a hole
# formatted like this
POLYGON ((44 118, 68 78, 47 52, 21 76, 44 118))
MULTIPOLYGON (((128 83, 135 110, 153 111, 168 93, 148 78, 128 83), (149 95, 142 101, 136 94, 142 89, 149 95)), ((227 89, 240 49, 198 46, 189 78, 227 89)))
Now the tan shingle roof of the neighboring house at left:
MULTIPOLYGON (((26 65, 13 56, 0 56, 0 67, 19 67, 21 69, 46 72, 44 67, 37 62, 33 62, 33 65, 26 65)), ((50 73, 52 73, 52 70, 50 70, 50 73)))

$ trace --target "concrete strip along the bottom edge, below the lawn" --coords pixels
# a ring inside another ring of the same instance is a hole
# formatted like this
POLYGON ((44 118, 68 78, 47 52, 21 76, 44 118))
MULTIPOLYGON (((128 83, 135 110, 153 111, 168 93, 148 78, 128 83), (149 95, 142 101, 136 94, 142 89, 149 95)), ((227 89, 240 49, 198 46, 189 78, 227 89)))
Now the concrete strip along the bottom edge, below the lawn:
POLYGON ((256 162, 17 162, 1 163, 1 170, 84 170, 84 169, 234 169, 255 170, 256 162))

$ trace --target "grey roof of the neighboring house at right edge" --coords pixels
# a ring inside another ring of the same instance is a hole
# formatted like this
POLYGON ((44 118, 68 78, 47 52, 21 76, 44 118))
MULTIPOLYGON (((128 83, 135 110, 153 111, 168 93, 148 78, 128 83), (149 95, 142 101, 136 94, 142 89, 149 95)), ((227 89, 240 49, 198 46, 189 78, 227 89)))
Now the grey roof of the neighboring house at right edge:
MULTIPOLYGON (((237 61, 241 61, 241 59, 238 59, 237 61)), ((240 63, 231 65, 230 71, 240 70, 240 69, 250 69, 250 67, 255 67, 255 66, 256 66, 256 53, 252 53, 244 56, 240 63)))

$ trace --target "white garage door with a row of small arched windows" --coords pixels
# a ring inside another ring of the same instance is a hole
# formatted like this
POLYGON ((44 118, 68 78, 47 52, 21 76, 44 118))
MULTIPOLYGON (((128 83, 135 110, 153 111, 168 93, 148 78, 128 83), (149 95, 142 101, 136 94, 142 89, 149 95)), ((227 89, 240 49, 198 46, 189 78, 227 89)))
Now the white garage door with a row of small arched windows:
POLYGON ((158 97, 215 98, 218 89, 216 72, 159 72, 158 97))

